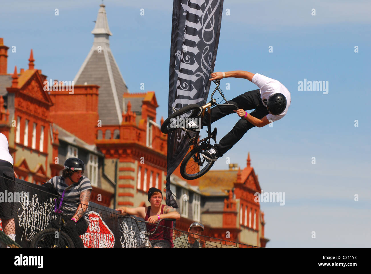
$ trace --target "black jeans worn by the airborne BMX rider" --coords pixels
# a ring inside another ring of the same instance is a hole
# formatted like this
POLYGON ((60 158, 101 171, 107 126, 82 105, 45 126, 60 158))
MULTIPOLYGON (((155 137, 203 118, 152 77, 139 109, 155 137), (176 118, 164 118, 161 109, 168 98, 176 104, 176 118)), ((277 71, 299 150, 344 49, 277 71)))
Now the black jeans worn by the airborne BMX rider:
MULTIPOLYGON (((236 104, 238 108, 242 108, 243 110, 255 109, 250 113, 250 115, 258 119, 261 119, 269 114, 267 108, 265 107, 265 105, 263 105, 262 99, 260 98, 259 89, 247 91, 244 94, 241 94, 228 102, 230 104, 236 104)), ((216 106, 211 108, 211 123, 214 123, 215 121, 228 114, 235 113, 233 110, 234 108, 223 106, 216 106)), ((202 125, 207 126, 207 111, 205 112, 202 125)), ((236 144, 242 138, 242 136, 252 127, 255 127, 255 125, 253 125, 246 119, 239 118, 232 130, 226 136, 221 138, 219 144, 214 145, 217 149, 218 157, 223 156, 224 153, 230 150, 234 146, 234 144, 236 144)))

